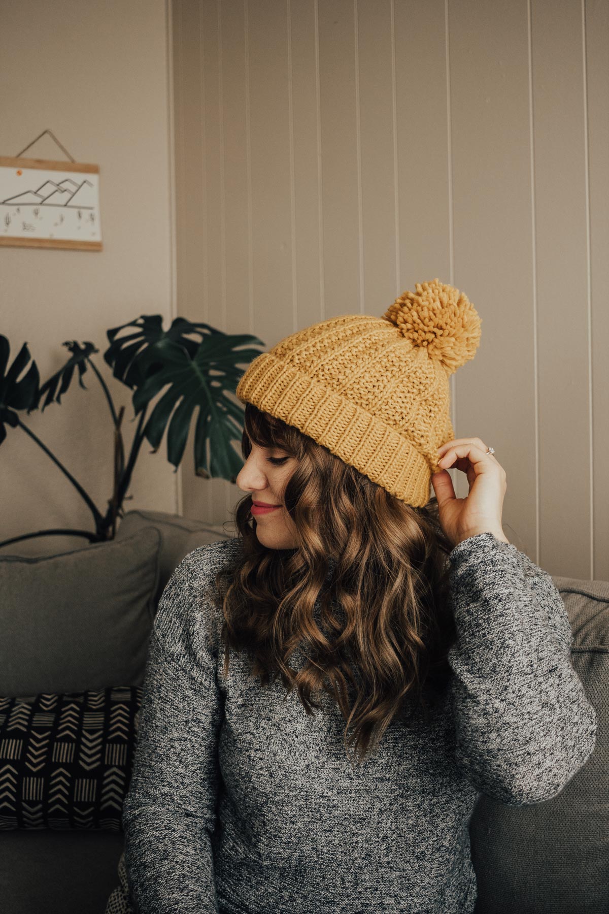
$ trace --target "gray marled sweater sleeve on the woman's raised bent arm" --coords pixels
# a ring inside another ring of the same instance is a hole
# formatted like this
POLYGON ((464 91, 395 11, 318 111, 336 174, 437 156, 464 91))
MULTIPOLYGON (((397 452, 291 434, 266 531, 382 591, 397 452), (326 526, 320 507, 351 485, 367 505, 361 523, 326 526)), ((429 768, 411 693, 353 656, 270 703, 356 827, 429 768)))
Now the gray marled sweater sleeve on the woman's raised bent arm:
POLYGON ((492 533, 462 540, 448 558, 457 764, 499 802, 550 800, 596 742, 562 597, 548 572, 492 533))

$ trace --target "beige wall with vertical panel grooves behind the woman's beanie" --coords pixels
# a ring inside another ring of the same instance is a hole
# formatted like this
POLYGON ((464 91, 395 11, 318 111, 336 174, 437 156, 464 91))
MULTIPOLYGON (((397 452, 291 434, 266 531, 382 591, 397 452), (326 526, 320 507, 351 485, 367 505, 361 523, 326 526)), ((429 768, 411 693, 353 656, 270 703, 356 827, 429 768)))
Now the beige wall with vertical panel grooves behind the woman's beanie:
MULTIPOLYGON (((453 424, 507 536, 609 579, 607 0, 174 0, 173 41, 179 314, 270 348, 456 285, 453 424)), ((191 448, 184 513, 221 523, 242 493, 191 448)))

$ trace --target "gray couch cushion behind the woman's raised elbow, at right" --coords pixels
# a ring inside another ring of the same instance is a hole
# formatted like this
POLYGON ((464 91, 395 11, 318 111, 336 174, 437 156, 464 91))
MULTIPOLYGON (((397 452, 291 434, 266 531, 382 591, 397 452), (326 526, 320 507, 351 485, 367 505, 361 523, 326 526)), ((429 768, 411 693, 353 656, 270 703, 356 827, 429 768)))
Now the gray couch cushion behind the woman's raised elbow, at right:
POLYGON ((596 711, 596 747, 551 800, 479 798, 469 826, 476 914, 609 911, 609 582, 552 580, 571 623, 573 668, 596 711))

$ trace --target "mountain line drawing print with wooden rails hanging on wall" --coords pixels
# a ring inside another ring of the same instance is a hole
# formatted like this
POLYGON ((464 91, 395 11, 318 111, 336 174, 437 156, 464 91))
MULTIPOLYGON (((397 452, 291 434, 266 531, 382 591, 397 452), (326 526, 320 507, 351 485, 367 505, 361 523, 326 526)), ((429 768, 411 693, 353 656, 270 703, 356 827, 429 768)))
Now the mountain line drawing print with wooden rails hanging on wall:
POLYGON ((0 156, 0 245, 101 250, 99 166, 0 156))

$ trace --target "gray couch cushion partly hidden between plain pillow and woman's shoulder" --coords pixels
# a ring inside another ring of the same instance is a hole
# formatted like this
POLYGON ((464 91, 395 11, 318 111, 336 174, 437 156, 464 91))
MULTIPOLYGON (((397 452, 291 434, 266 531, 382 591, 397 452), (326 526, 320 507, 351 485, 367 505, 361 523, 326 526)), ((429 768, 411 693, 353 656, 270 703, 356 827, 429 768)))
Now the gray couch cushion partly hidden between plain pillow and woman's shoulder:
POLYGON ((188 517, 166 514, 163 511, 128 511, 121 520, 116 539, 131 537, 131 534, 142 529, 142 526, 153 526, 161 535, 157 603, 173 569, 177 568, 184 556, 193 549, 215 543, 218 539, 236 537, 236 531, 230 521, 216 526, 188 517))

